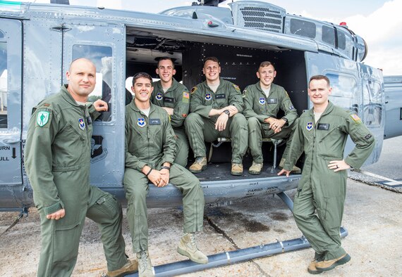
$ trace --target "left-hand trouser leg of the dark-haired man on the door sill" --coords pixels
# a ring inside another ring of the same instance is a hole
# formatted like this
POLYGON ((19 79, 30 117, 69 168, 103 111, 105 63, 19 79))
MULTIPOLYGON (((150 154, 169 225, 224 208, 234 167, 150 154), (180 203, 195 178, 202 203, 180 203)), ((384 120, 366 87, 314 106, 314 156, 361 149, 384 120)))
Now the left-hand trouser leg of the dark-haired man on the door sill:
POLYGON ((126 168, 124 189, 127 199, 127 221, 130 228, 133 251, 148 250, 147 176, 135 169, 126 168))

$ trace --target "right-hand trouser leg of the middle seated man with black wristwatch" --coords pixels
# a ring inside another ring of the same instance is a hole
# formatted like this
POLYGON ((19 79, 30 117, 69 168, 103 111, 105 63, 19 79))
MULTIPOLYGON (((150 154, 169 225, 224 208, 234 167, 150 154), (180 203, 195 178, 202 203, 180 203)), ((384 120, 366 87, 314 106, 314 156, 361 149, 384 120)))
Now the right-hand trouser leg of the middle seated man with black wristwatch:
POLYGON ((241 113, 236 113, 228 121, 230 137, 232 140, 232 162, 236 164, 243 163, 243 156, 248 148, 248 127, 247 120, 241 113))

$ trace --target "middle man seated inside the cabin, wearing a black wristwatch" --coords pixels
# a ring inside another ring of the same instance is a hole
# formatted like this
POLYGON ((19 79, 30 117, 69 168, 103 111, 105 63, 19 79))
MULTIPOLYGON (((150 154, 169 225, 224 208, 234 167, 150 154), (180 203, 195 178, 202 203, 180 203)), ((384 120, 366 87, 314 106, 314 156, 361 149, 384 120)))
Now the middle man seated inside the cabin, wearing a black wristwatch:
POLYGON ((199 173, 207 168, 205 141, 231 138, 231 174, 243 174, 243 156, 248 148, 248 127, 243 112, 240 89, 219 77, 221 66, 215 57, 205 59, 202 72, 205 82, 191 90, 190 114, 185 119, 185 132, 193 149, 195 162, 189 170, 199 173))

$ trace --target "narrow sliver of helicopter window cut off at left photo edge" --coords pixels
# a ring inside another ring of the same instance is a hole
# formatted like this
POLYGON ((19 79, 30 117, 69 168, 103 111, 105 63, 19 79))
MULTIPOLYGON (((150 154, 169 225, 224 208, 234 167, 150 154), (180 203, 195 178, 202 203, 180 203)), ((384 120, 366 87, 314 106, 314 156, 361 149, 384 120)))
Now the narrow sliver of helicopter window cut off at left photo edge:
POLYGON ((7 128, 7 43, 0 42, 0 129, 6 129, 6 128, 7 128))

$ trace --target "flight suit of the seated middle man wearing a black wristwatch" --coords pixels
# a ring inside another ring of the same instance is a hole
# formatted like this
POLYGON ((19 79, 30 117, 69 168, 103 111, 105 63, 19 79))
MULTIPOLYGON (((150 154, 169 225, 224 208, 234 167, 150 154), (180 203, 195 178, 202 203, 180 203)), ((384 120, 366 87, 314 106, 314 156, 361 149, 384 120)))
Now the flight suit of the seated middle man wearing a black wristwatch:
POLYGON ((225 79, 220 79, 217 92, 209 88, 207 82, 194 86, 191 90, 190 114, 185 119, 185 133, 190 141, 195 157, 205 157, 205 141, 216 141, 219 137, 231 138, 232 162, 243 163, 243 156, 248 148, 248 127, 243 112, 243 99, 240 89, 225 79), (224 131, 215 129, 219 116, 209 117, 212 109, 221 109, 234 105, 238 113, 229 117, 224 131))

